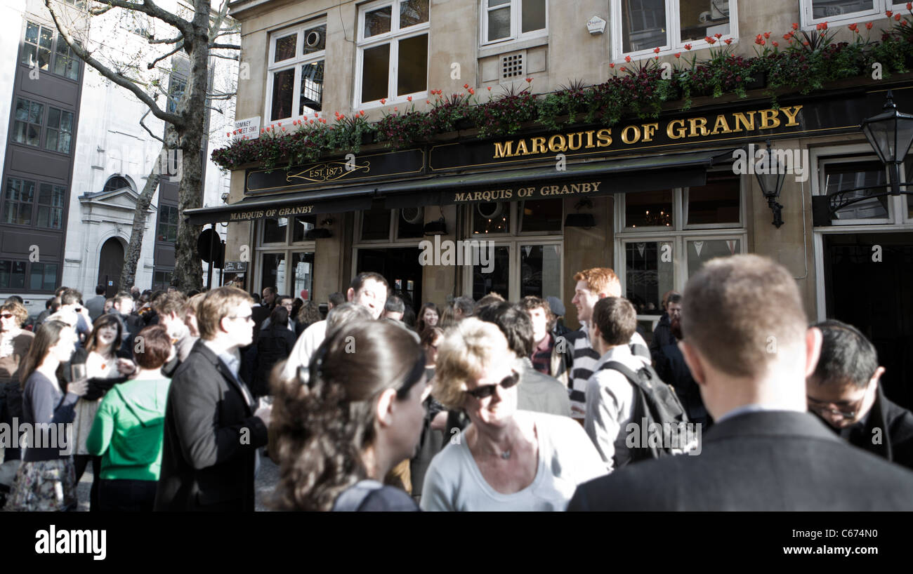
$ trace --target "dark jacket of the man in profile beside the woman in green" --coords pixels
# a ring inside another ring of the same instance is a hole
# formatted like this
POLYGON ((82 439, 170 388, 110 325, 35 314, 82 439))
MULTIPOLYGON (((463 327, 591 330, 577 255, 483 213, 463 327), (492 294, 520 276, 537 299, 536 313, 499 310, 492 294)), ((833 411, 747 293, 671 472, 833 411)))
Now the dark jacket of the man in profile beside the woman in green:
POLYGON ((253 511, 267 427, 247 386, 203 340, 174 373, 165 406, 157 511, 253 511))

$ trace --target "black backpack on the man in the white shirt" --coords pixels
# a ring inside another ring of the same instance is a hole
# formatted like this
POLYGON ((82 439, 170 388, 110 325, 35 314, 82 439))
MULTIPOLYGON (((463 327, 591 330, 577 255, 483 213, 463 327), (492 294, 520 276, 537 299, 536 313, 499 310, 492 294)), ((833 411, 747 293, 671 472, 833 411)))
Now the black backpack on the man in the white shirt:
POLYGON ((631 462, 683 454, 700 440, 688 423, 685 408, 672 387, 667 385, 656 370, 644 365, 632 370, 622 363, 610 360, 600 370, 611 369, 622 373, 634 386, 635 407, 633 429, 623 428, 625 444, 631 452, 631 462), (690 431, 690 432, 689 432, 690 431))

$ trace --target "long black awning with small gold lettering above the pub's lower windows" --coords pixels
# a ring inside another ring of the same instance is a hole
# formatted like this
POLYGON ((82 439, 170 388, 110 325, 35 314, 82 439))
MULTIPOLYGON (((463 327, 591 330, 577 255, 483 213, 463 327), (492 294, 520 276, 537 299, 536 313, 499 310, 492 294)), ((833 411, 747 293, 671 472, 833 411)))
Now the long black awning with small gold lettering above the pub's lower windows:
POLYGON ((536 167, 525 170, 438 175, 404 182, 247 197, 236 204, 189 209, 194 225, 249 221, 267 217, 331 214, 370 209, 385 198, 387 209, 421 205, 473 204, 493 201, 555 199, 650 192, 707 183, 709 167, 732 159, 734 148, 536 167))

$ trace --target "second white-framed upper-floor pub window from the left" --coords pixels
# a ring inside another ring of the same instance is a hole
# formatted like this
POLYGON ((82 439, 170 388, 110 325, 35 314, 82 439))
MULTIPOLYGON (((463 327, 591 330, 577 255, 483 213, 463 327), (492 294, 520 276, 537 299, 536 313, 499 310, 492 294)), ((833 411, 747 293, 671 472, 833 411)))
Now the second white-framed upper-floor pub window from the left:
POLYGON ((428 0, 395 0, 359 12, 356 102, 400 101, 428 89, 428 0))

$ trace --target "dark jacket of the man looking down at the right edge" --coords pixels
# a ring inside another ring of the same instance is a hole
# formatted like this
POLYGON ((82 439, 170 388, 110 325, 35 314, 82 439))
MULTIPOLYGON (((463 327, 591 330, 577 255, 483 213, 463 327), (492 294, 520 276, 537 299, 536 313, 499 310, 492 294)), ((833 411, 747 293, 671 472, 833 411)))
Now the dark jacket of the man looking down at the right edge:
POLYGON ((890 402, 880 386, 866 418, 853 427, 835 432, 854 446, 913 469, 913 412, 890 402))

